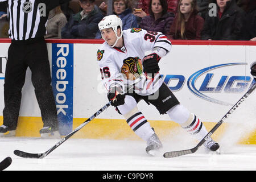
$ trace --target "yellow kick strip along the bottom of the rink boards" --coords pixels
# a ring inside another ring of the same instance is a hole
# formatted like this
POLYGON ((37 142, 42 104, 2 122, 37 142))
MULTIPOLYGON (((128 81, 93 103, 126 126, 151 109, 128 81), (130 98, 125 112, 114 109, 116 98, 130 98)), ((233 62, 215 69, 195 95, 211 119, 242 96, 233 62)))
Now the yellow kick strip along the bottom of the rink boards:
MULTIPOLYGON (((81 125, 86 119, 73 118, 73 129, 81 125)), ((2 125, 3 117, 0 116, 0 124, 2 125)), ((151 127, 154 127, 160 138, 171 137, 180 130, 180 125, 171 121, 149 121, 151 127)), ((205 127, 209 131, 216 122, 204 122, 205 127)), ((222 125, 214 132, 213 139, 224 134, 228 123, 222 125)), ((16 137, 40 137, 39 130, 42 129, 43 122, 41 117, 19 117, 18 127, 16 129, 16 137)), ((92 138, 92 139, 120 139, 120 140, 139 140, 140 138, 130 129, 124 119, 98 119, 95 118, 88 123, 72 138, 92 138)), ((245 134, 240 144, 256 144, 256 130, 252 133, 245 134)))

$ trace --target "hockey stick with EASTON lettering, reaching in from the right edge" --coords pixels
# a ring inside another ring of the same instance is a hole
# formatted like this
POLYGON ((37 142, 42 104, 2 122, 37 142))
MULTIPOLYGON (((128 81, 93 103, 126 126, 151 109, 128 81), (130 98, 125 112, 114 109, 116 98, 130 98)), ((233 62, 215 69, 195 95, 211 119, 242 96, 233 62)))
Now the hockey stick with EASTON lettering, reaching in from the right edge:
POLYGON ((236 110, 243 101, 245 101, 245 99, 253 92, 255 88, 256 88, 256 82, 254 81, 253 84, 250 86, 249 90, 240 98, 240 100, 237 101, 237 103, 228 111, 228 113, 224 115, 224 117, 213 127, 213 129, 209 131, 209 133, 199 142, 199 144, 197 144, 196 147, 188 150, 166 152, 163 154, 164 158, 175 158, 177 156, 195 153, 199 149, 199 147, 209 139, 209 137, 213 134, 213 132, 217 130, 218 127, 220 127, 220 125, 224 122, 224 120, 227 119, 229 115, 232 114, 233 111, 236 110))

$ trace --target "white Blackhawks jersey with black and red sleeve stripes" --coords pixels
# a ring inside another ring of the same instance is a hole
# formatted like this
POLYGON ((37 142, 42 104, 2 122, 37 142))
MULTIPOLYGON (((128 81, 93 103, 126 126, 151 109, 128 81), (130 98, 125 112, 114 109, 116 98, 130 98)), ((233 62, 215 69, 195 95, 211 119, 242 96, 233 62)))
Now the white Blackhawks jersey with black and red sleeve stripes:
POLYGON ((113 84, 122 86, 129 93, 135 92, 142 96, 155 93, 163 80, 157 73, 154 78, 143 73, 142 59, 145 52, 154 48, 171 51, 171 42, 161 32, 146 31, 141 28, 130 28, 123 31, 124 46, 112 48, 104 42, 97 51, 101 78, 107 90, 113 84), (131 86, 133 89, 130 89, 131 86))

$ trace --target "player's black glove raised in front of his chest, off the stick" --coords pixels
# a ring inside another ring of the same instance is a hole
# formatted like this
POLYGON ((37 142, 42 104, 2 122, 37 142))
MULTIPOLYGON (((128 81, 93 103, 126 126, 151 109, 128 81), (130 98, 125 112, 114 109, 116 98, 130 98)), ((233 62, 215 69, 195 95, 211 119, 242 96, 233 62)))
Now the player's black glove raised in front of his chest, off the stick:
POLYGON ((158 66, 158 62, 161 59, 157 53, 151 53, 143 58, 143 72, 144 73, 152 73, 152 77, 154 78, 154 73, 158 73, 160 68, 158 66))

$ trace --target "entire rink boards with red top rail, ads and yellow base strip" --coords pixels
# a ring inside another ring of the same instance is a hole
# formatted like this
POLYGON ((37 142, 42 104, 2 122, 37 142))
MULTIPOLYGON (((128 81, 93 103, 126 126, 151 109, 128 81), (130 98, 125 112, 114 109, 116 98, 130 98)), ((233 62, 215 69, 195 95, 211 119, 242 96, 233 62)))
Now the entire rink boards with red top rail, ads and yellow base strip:
MULTIPOLYGON (((10 41, 0 41, 0 123, 2 123, 3 83, 7 50, 10 41)), ((48 55, 52 68, 61 134, 67 135, 104 106, 108 100, 101 85, 97 54, 102 40, 48 40, 48 55)), ((181 104, 195 113, 210 130, 247 91, 253 82, 250 64, 256 60, 253 42, 172 41, 172 51, 160 60, 160 73, 181 104)), ((22 90, 22 104, 16 135, 39 137, 43 126, 28 69, 22 90)), ((255 94, 248 100, 255 101, 255 94)), ((159 115, 154 106, 139 102, 139 110, 162 137, 180 130, 167 115, 159 115)), ((218 137, 232 123, 246 125, 255 120, 255 106, 246 103, 240 113, 228 119, 214 133, 218 137), (253 108, 254 107, 254 108, 253 108)), ((234 114, 235 115, 235 114, 234 114)), ((236 131, 234 131, 236 132, 236 131)), ((126 121, 109 107, 86 125, 74 137, 138 139, 126 121)), ((256 144, 255 130, 245 133, 242 143, 256 144)))

